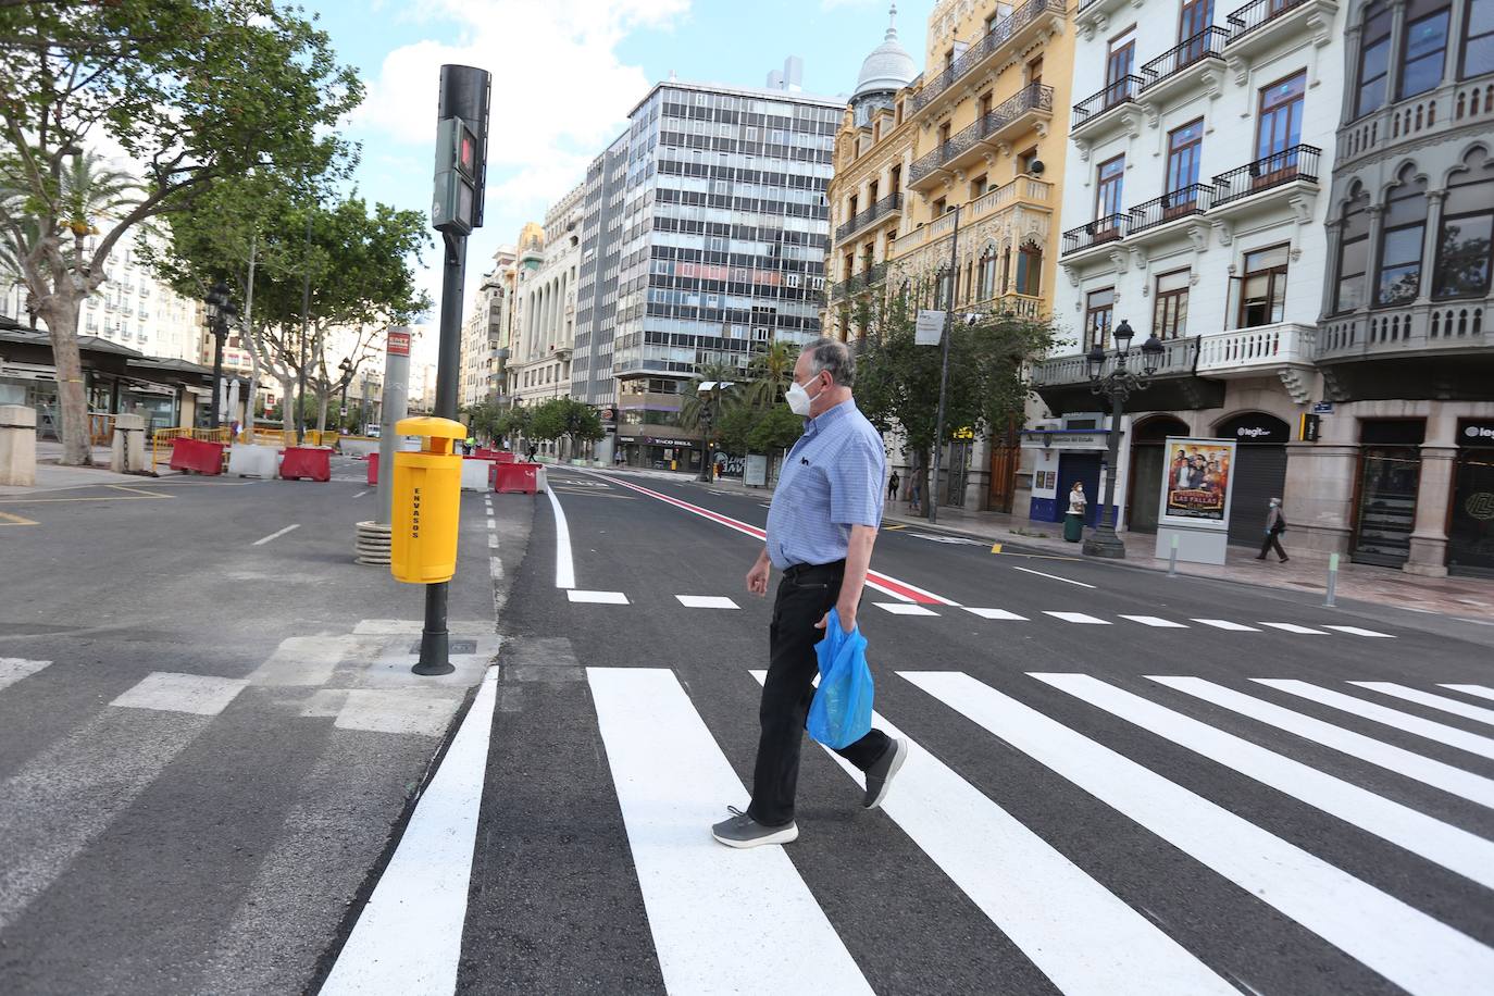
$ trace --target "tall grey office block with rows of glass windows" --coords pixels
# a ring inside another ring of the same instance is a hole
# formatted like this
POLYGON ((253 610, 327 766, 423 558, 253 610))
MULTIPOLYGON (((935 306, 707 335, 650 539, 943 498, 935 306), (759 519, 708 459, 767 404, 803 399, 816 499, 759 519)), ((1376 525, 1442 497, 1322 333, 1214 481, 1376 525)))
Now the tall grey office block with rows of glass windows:
POLYGON ((698 467, 680 391, 705 364, 820 334, 825 188, 844 103, 799 91, 668 81, 587 170, 572 393, 616 406, 598 452, 698 467))

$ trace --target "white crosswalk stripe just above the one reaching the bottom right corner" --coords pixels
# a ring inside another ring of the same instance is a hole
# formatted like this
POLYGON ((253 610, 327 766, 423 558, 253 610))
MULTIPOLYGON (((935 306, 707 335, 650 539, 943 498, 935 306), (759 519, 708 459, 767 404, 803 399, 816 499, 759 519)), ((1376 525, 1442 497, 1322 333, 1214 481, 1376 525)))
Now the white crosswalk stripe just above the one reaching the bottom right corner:
POLYGON ((1091 675, 1031 672, 1029 676, 1126 723, 1134 723, 1149 733, 1186 747, 1216 765, 1270 785, 1349 826, 1389 841, 1401 850, 1442 865, 1485 888, 1494 888, 1494 841, 1485 841, 1091 675))

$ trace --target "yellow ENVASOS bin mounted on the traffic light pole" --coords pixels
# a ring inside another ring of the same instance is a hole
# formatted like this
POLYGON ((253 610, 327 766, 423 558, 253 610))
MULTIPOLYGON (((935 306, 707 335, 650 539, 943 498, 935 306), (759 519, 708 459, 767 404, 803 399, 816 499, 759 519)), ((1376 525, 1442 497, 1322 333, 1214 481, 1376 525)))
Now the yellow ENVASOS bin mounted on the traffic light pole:
POLYGON ((466 426, 450 418, 405 418, 400 436, 421 436, 418 452, 394 452, 388 570, 396 581, 439 584, 457 570, 462 457, 466 426))

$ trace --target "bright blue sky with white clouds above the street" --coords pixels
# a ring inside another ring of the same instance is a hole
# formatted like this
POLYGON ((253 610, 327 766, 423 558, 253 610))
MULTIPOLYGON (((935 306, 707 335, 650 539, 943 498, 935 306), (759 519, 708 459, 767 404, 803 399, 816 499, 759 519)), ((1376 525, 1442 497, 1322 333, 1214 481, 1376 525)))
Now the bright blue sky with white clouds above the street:
MULTIPOLYGON (((442 63, 493 73, 484 227, 468 245, 466 305, 493 251, 586 176, 627 112, 671 73, 681 81, 762 87, 789 55, 804 90, 850 94, 881 43, 887 0, 302 0, 368 97, 348 119, 360 143, 363 197, 429 211, 442 63)), ((934 0, 901 0, 898 33, 916 63, 934 0)), ((432 233, 435 236, 436 233, 432 233)), ((439 303, 439 255, 421 260, 439 303)), ((466 308, 463 308, 466 311, 466 308)), ((430 333, 417 363, 435 361, 430 333)))

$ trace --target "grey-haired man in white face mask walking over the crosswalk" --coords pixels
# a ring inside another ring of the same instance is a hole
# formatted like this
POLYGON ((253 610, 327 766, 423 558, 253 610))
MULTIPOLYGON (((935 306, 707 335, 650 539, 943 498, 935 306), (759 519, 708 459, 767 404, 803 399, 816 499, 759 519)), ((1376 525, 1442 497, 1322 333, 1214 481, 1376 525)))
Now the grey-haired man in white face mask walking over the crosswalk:
MULTIPOLYGON (((799 781, 804 721, 814 697, 814 645, 829 611, 850 633, 881 521, 886 455, 881 436, 852 399, 855 358, 843 342, 819 339, 799 354, 787 402, 804 435, 783 461, 768 509, 768 542, 747 572, 747 590, 768 594, 781 572, 768 630, 768 676, 757 718, 751 803, 711 827, 728 847, 787 844, 799 836, 793 796, 799 781)), ((837 751, 867 775, 862 805, 875 809, 908 756, 905 741, 872 729, 837 751)))

